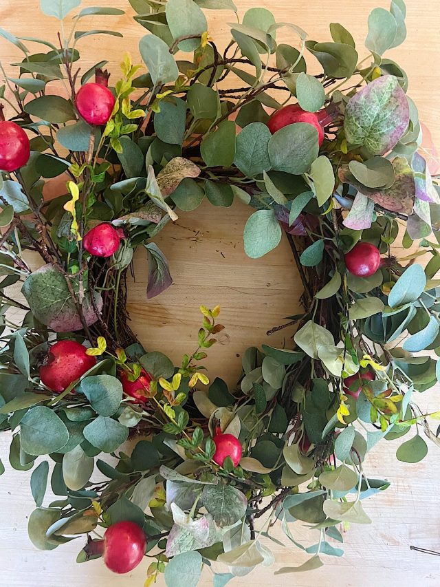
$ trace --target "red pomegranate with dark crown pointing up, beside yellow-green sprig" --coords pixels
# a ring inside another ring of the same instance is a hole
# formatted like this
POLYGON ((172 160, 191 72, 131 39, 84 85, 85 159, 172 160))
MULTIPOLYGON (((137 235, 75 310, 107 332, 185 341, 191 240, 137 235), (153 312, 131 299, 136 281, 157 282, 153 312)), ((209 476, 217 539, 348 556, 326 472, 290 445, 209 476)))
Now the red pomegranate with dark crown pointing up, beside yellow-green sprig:
POLYGON ((106 125, 115 105, 115 97, 107 87, 109 74, 96 70, 94 82, 82 85, 75 98, 76 109, 89 125, 106 125))

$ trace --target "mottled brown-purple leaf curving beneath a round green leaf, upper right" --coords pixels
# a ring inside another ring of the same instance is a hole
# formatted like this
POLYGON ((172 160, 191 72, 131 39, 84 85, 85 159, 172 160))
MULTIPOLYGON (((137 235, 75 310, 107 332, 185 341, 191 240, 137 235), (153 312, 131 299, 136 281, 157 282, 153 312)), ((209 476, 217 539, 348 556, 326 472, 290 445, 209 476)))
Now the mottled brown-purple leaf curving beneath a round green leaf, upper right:
POLYGON ((411 214, 415 200, 414 174, 404 157, 393 160, 395 182, 387 189, 373 189, 362 185, 349 170, 348 165, 341 165, 339 178, 345 184, 351 184, 355 189, 374 200, 376 204, 391 212, 411 214))

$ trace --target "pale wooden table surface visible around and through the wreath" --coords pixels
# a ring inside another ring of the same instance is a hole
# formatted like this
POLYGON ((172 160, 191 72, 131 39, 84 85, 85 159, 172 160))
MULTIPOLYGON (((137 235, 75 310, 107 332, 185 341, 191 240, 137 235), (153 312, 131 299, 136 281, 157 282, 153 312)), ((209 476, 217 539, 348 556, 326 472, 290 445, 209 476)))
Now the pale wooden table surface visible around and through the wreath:
MULTIPOLYGON (((241 13, 256 6, 251 0, 236 0, 241 13)), ((277 21, 289 21, 309 32, 309 38, 330 40, 328 24, 339 21, 358 41, 360 55, 366 36, 366 20, 378 0, 260 0, 258 5, 270 8, 277 21)), ((83 2, 95 6, 94 0, 83 2)), ((139 60, 137 43, 144 31, 131 16, 126 0, 107 0, 106 6, 127 10, 123 17, 92 17, 88 28, 111 28, 124 34, 122 39, 91 36, 78 48, 83 56, 83 72, 100 59, 107 59, 111 71, 125 50, 139 60), (102 20, 101 20, 102 18, 102 20)), ((386 2, 382 6, 388 8, 386 2)), ((408 0, 408 39, 403 46, 389 52, 404 67, 410 80, 408 93, 419 107, 420 118, 429 127, 434 142, 440 145, 440 122, 436 92, 440 73, 440 11, 436 0, 408 0)), ((210 34, 221 47, 228 35, 226 23, 232 14, 221 12, 213 17, 207 12, 210 34)), ((87 23, 89 24, 89 23, 87 23)), ((37 0, 0 0, 0 25, 19 36, 39 36, 55 41, 56 20, 44 17, 37 0)), ((284 36, 288 41, 288 36, 284 36)), ((34 49, 34 47, 32 47, 34 49)), ((38 49, 35 49, 38 50, 38 49)), ((365 53, 366 54, 366 53, 365 53)), ((6 70, 17 61, 15 47, 0 38, 0 56, 6 70)), ((387 54, 388 56, 388 54, 387 54)), ((311 59, 308 59, 312 63, 311 59)), ((313 67, 313 65, 312 65, 313 67)), ((146 259, 139 252, 135 263, 135 281, 129 287, 129 310, 133 330, 148 350, 162 350, 179 361, 181 354, 192 350, 199 328, 199 304, 222 307, 221 318, 229 339, 217 345, 208 359, 210 378, 222 375, 233 383, 240 372, 240 354, 249 345, 280 345, 292 336, 283 330, 269 339, 266 331, 283 322, 283 317, 296 312, 300 281, 294 270, 287 242, 263 257, 248 259, 243 253, 243 226, 250 214, 241 204, 229 209, 214 209, 203 204, 195 213, 181 213, 176 225, 168 226, 157 238, 170 262, 174 283, 161 296, 146 301, 146 259)), ((439 409, 439 389, 421 395, 423 409, 439 409)), ((7 461, 10 436, 1 434, 0 454, 7 461)), ((440 483, 439 449, 429 446, 425 460, 418 465, 401 463, 394 451, 399 441, 381 443, 366 462, 371 477, 386 477, 391 487, 365 503, 373 520, 370 526, 353 525, 346 534, 344 557, 325 557, 326 565, 306 575, 274 577, 279 566, 300 564, 305 556, 300 551, 271 543, 276 557, 274 568, 259 568, 231 585, 262 587, 284 586, 366 587, 437 587, 440 585, 440 559, 410 551, 410 544, 440 551, 440 483)), ((147 564, 130 575, 111 575, 99 561, 77 565, 76 554, 83 546, 82 538, 57 548, 37 551, 26 533, 27 518, 33 509, 29 488, 30 472, 13 471, 5 463, 0 480, 0 584, 4 587, 141 587, 147 564)), ((47 496, 50 500, 50 495, 47 496)), ((47 501, 48 503, 49 501, 47 501)), ((298 527, 296 537, 311 544, 309 531, 298 527)), ((278 535, 281 540, 283 537, 278 535)), ((285 540, 283 540, 285 542, 285 540)), ((223 570, 225 572, 225 570, 223 570)), ((211 584, 209 570, 201 585, 211 584)), ((159 586, 164 582, 159 581, 159 586)), ((182 586, 184 587, 184 586, 182 586)))

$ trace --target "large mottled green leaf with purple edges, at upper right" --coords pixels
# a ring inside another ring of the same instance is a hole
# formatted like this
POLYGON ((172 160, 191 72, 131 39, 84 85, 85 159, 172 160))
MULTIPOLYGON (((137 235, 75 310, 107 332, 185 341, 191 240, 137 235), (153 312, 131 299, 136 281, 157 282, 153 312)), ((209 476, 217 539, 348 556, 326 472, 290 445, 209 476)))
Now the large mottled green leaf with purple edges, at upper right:
POLYGON ((372 155, 384 155, 404 136, 410 109, 395 76, 370 82, 350 99, 344 131, 352 145, 366 147, 372 155))

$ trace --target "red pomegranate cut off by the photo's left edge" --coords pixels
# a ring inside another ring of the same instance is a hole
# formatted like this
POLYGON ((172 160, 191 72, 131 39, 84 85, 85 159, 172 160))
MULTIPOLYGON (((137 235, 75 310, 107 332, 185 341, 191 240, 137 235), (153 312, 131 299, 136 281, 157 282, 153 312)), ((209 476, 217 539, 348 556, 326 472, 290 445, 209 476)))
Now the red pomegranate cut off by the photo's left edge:
POLYGON ((0 171, 17 171, 29 160, 28 135, 15 122, 5 120, 0 104, 0 171))

